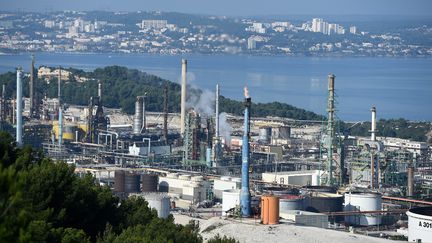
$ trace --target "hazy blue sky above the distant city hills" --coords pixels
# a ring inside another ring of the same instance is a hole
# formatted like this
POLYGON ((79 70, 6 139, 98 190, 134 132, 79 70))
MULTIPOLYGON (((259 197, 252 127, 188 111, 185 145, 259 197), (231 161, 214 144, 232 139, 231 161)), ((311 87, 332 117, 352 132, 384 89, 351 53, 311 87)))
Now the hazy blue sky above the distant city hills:
POLYGON ((217 15, 432 15, 432 0, 0 0, 0 10, 160 10, 217 15))

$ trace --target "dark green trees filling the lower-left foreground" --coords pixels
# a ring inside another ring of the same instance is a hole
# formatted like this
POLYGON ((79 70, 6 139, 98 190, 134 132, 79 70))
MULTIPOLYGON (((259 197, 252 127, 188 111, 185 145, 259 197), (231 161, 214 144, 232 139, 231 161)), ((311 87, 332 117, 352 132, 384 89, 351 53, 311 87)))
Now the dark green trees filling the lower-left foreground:
MULTIPOLYGON (((0 242, 202 242, 194 221, 157 217, 139 197, 119 200, 74 167, 0 132, 0 242)), ((209 242, 236 242, 215 237, 209 242)))

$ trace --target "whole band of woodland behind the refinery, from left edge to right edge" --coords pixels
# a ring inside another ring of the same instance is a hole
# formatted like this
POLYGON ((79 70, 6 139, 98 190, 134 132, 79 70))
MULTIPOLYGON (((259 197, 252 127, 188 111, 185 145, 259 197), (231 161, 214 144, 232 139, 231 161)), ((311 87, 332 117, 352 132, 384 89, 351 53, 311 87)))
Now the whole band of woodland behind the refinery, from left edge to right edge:
MULTIPOLYGON (((163 88, 168 86, 169 112, 180 111, 180 85, 160 77, 141 72, 136 69, 128 69, 120 66, 108 66, 97 68, 92 72, 78 69, 66 69, 76 76, 88 78, 87 82, 77 82, 70 77, 68 82, 62 84, 62 99, 68 104, 87 105, 89 98, 97 94, 97 82, 100 80, 103 87, 103 104, 106 107, 121 108, 126 113, 134 112, 135 97, 147 93, 146 108, 149 111, 163 110, 163 88)), ((24 96, 28 97, 28 76, 24 78, 24 96)), ((6 84, 7 97, 15 94, 16 74, 8 72, 0 75, 0 84, 6 84)), ((36 94, 39 96, 57 97, 57 79, 53 78, 49 83, 37 80, 36 94)), ((190 87, 193 96, 199 96, 202 91, 190 87)), ((220 97, 220 110, 242 115, 242 101, 220 97)), ((252 116, 266 117, 277 116, 299 120, 325 120, 325 117, 280 102, 254 103, 252 116)), ((356 136, 368 136, 370 123, 364 122, 348 129, 349 124, 342 123, 341 131, 348 131, 356 136)), ((430 122, 410 122, 405 119, 379 120, 377 124, 378 136, 399 137, 416 141, 427 141, 427 133, 432 130, 430 122)), ((430 139, 430 138, 429 138, 430 139)), ((429 141, 432 142, 432 141, 429 141)))

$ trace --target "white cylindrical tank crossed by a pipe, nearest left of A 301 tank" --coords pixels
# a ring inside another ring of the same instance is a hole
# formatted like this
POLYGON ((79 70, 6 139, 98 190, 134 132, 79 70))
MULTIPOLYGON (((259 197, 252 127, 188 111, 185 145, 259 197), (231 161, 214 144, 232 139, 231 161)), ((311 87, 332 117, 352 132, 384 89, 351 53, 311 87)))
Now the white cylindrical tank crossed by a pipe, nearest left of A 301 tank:
MULTIPOLYGON (((381 202, 381 194, 379 193, 345 193, 344 211, 378 211, 381 210, 381 202)), ((345 216, 345 222, 362 226, 379 225, 381 224, 381 215, 350 215, 345 216)))

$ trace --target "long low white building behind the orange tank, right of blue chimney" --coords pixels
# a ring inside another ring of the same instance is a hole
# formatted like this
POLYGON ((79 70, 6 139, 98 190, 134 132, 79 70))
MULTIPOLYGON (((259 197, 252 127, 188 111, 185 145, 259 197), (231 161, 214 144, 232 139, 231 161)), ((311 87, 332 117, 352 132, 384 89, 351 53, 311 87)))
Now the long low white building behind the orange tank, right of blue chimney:
POLYGON ((280 183, 297 186, 318 186, 320 177, 324 172, 321 170, 284 171, 262 173, 262 180, 269 183, 280 183))

